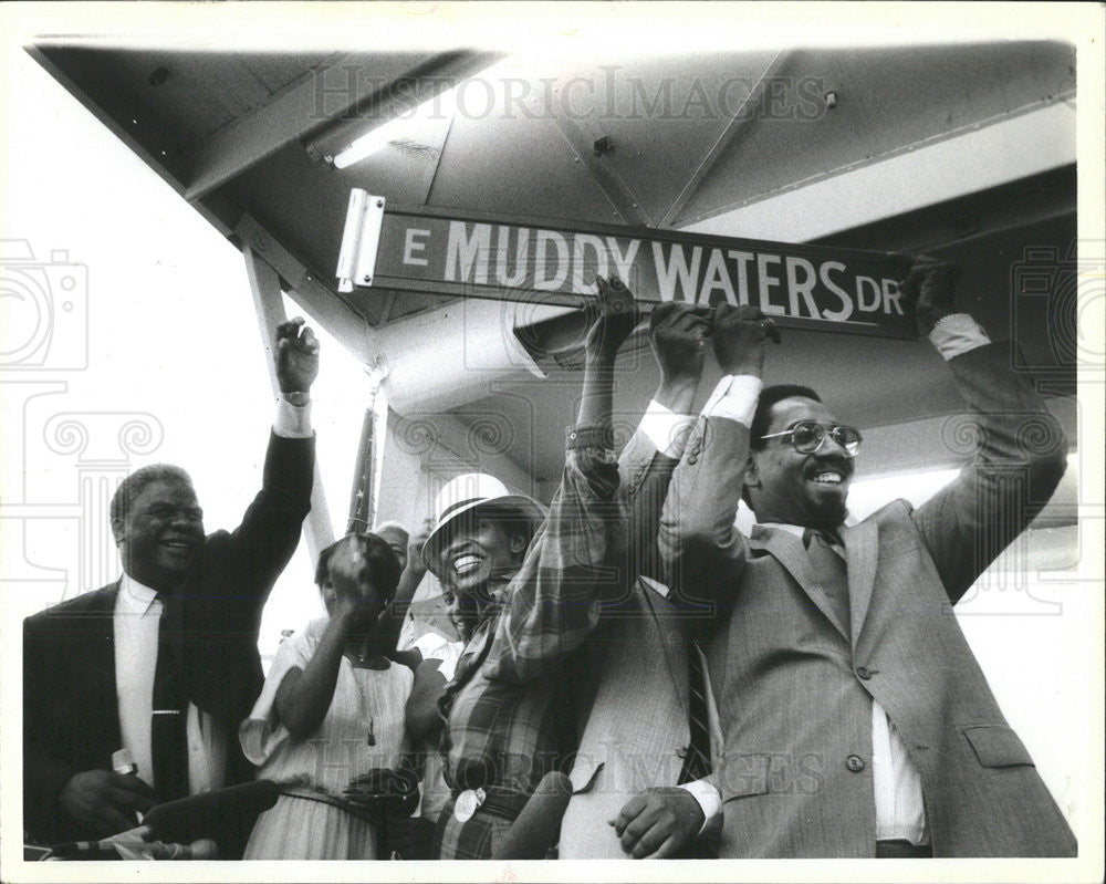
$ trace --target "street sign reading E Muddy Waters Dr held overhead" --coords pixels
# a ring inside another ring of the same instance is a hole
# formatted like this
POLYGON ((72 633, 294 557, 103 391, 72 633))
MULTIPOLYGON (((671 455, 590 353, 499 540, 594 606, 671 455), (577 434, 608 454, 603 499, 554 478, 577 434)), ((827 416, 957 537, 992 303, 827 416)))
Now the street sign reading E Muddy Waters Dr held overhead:
POLYGON ((596 274, 617 275, 643 306, 728 301, 783 327, 916 337, 899 291, 909 266, 905 256, 855 249, 389 208, 373 287, 580 305, 596 274))

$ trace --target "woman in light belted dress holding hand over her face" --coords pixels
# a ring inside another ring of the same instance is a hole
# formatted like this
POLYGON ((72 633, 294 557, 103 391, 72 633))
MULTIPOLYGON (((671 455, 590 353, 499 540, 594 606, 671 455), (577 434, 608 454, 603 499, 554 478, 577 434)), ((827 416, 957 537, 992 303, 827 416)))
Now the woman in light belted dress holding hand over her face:
POLYGON ((349 534, 322 552, 315 574, 327 616, 276 651, 240 738, 258 777, 282 793, 261 814, 247 860, 373 860, 373 817, 351 781, 397 769, 407 749, 404 705, 414 676, 388 658, 380 614, 399 562, 376 534, 349 534))

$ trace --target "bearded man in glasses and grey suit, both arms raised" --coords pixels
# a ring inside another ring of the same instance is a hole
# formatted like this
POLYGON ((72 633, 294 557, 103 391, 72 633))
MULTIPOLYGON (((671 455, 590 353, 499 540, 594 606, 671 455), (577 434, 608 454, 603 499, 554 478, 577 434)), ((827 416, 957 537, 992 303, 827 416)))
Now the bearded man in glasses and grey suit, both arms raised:
MULTIPOLYGON (((917 510, 897 500, 855 526, 860 434, 810 388, 761 389, 759 311, 716 314, 724 377, 674 474, 659 544, 677 600, 709 612, 720 856, 1075 855, 951 609, 1044 507, 1067 443, 1010 350, 956 313, 953 275, 919 258, 904 292, 979 451, 917 510), (748 540, 733 527, 742 496, 759 523, 748 540)), ((686 792, 658 789, 615 829, 632 855, 667 855, 702 823, 686 792)))

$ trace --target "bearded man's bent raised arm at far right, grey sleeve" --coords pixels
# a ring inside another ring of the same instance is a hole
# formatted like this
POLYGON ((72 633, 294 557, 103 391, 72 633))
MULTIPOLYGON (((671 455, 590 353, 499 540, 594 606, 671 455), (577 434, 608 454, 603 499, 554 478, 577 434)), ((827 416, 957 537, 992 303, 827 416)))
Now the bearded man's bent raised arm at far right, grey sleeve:
POLYGON ((1047 503, 1067 466, 1067 439, 1012 370, 1013 346, 990 343, 956 312, 956 268, 920 257, 902 289, 970 409, 943 434, 953 450, 975 447, 970 462, 914 513, 954 603, 1047 503))

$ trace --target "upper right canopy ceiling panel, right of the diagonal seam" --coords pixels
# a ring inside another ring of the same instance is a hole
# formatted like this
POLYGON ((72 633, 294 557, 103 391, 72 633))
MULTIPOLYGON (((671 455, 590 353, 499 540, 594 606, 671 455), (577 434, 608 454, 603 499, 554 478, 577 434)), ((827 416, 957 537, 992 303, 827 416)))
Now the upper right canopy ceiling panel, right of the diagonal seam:
POLYGON ((750 121, 676 225, 1071 96, 1074 67, 1062 43, 795 53, 789 82, 824 85, 836 105, 811 119, 800 101, 750 121))

